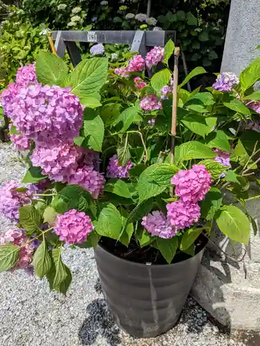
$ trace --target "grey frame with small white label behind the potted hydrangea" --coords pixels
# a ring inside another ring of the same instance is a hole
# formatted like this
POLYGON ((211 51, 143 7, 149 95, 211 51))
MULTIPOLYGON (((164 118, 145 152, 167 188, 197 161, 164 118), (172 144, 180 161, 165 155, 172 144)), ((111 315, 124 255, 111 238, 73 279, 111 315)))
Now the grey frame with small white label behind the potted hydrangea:
POLYGON ((176 31, 142 31, 142 30, 123 30, 123 31, 54 31, 53 39, 59 57, 64 57, 65 51, 71 57, 73 66, 81 62, 80 49, 76 42, 95 42, 102 44, 129 44, 131 53, 139 52, 143 57, 147 53, 147 47, 165 46, 165 43, 172 39, 176 40, 176 31))

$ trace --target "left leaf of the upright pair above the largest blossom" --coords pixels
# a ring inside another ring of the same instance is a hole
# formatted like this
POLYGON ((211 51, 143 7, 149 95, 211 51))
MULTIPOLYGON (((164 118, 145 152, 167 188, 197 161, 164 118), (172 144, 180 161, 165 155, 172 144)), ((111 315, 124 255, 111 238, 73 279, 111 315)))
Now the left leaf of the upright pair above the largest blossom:
POLYGON ((35 63, 37 81, 41 84, 60 85, 68 73, 66 62, 55 54, 41 51, 35 63), (61 83, 59 83, 61 82, 61 83))

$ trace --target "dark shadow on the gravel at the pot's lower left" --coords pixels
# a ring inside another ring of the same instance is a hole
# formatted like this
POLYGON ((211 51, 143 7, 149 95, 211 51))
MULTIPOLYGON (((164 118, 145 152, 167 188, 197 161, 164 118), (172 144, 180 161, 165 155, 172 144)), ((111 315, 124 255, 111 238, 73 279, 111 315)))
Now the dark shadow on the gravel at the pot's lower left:
POLYGON ((84 320, 79 331, 82 345, 97 345, 98 337, 106 339, 108 345, 117 346, 121 343, 118 326, 109 312, 104 299, 96 299, 86 308, 89 317, 84 320))

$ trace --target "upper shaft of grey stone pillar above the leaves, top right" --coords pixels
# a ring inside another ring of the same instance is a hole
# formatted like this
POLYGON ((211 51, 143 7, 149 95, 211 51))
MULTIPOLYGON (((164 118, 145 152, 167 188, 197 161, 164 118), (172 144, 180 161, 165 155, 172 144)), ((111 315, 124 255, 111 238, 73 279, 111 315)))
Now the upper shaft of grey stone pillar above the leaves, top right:
POLYGON ((260 1, 231 0, 221 72, 239 75, 260 56, 260 1))

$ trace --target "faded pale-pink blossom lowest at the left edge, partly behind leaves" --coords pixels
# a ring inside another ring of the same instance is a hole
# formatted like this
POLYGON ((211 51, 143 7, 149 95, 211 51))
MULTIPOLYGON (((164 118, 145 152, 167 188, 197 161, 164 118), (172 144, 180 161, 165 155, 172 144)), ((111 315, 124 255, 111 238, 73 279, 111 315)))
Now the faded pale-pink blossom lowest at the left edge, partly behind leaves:
POLYGON ((27 244, 27 242, 28 238, 26 235, 24 235, 24 230, 22 228, 12 227, 3 235, 3 237, 0 237, 1 245, 13 244, 16 246, 21 246, 26 244, 20 248, 18 262, 12 269, 28 268, 30 262, 32 262, 32 254, 35 251, 35 246, 32 243, 27 244))

